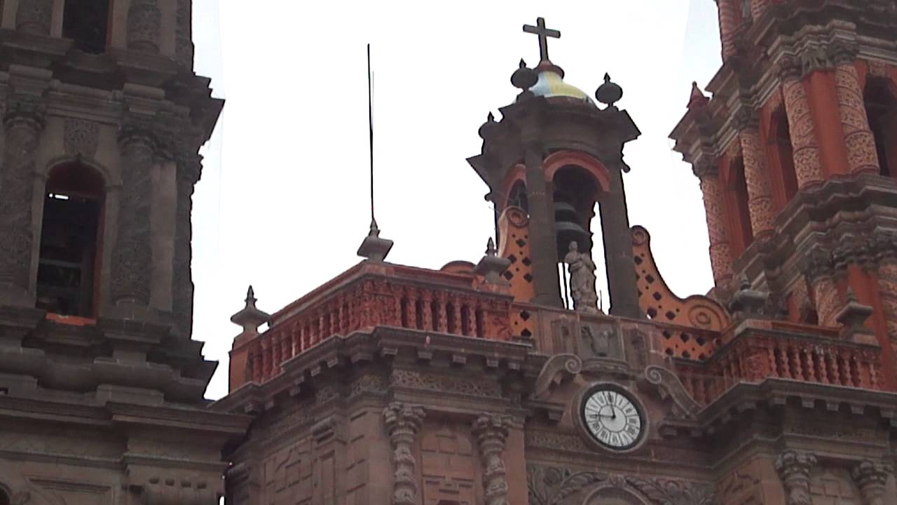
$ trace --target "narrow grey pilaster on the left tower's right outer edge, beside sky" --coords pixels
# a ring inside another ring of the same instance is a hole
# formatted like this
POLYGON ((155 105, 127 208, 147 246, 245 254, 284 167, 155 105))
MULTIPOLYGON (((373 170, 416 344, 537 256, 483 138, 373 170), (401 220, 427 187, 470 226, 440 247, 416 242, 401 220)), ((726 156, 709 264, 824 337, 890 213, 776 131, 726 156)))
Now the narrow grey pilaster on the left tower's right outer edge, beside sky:
POLYGON ((189 336, 193 331, 193 272, 190 259, 193 249, 193 190, 202 171, 201 155, 183 152, 178 157, 177 193, 174 235, 174 279, 171 292, 174 302, 175 323, 181 334, 189 336))

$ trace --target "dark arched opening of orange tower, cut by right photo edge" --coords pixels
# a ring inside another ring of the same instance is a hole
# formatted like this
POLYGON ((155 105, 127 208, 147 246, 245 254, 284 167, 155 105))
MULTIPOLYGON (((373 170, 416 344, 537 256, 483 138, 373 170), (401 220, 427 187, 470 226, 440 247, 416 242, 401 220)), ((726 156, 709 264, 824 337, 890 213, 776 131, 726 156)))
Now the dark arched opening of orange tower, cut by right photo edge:
POLYGON ((884 79, 870 79, 864 93, 869 128, 875 137, 875 153, 878 155, 879 173, 885 177, 897 177, 897 99, 893 87, 884 79))

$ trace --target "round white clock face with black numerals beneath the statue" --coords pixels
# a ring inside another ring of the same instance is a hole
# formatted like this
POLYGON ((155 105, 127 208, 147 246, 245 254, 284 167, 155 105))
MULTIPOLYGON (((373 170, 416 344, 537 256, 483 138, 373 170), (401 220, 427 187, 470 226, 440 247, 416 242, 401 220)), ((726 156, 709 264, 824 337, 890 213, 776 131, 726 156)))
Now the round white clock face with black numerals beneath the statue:
POLYGON ((588 433, 605 447, 627 449, 641 439, 641 411, 616 389, 599 388, 582 403, 582 421, 588 433))

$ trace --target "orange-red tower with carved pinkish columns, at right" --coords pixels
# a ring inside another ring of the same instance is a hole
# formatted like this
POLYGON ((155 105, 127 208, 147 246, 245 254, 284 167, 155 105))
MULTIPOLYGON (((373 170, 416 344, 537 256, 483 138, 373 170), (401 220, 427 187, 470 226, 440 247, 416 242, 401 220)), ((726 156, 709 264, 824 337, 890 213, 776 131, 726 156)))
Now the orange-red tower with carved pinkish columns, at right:
POLYGON ((700 179, 715 296, 839 327, 853 306, 897 387, 893 1, 719 0, 723 66, 672 133, 700 179), (865 308, 859 309, 859 306, 865 308), (874 334, 874 336, 872 336, 874 334))

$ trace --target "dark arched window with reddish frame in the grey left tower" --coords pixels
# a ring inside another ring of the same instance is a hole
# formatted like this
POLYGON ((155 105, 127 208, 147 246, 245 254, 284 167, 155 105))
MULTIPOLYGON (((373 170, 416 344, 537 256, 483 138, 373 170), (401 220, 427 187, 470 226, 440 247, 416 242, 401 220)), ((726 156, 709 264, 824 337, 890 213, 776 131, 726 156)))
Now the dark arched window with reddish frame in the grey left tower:
POLYGON ((103 178, 77 162, 50 170, 40 226, 37 306, 52 314, 97 312, 103 178))

